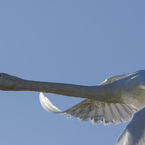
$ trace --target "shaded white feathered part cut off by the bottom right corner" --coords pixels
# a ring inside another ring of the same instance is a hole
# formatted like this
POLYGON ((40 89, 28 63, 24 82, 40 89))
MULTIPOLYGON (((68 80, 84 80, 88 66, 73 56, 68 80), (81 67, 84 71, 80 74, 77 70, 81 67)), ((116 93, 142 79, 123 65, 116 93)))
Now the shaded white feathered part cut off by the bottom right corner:
POLYGON ((145 144, 145 108, 135 113, 131 122, 120 135, 116 145, 145 144))

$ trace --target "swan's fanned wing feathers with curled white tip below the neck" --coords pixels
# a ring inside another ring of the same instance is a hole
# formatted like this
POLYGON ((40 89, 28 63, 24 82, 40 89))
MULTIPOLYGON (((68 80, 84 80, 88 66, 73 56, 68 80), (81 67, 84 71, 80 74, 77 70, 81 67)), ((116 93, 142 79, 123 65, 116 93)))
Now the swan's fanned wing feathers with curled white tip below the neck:
POLYGON ((69 117, 78 117, 81 121, 90 120, 93 124, 109 125, 126 122, 137 111, 125 104, 104 103, 90 99, 86 99, 66 111, 60 111, 43 93, 40 93, 39 99, 42 107, 50 113, 70 114, 69 117))

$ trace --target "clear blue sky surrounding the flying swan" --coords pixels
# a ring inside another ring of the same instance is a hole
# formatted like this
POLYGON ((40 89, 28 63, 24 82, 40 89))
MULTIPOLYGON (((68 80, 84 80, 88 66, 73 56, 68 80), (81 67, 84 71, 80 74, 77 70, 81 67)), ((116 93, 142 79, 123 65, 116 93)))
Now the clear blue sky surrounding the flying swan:
MULTIPOLYGON (((24 79, 97 85, 145 69, 145 1, 2 0, 0 71, 24 79)), ((127 123, 52 115, 38 92, 0 91, 1 145, 113 145, 127 123)), ((45 95, 61 110, 82 99, 45 95)))

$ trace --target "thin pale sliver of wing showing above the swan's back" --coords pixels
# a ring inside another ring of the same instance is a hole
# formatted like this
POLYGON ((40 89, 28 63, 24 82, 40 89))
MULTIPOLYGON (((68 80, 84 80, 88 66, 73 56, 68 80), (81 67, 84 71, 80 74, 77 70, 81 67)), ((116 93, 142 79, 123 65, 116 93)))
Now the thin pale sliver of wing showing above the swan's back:
POLYGON ((114 82, 116 80, 120 80, 120 79, 123 79, 127 76, 129 76, 130 73, 128 74, 122 74, 122 75, 117 75, 117 76, 113 76, 113 77, 110 77, 110 78, 107 78, 104 82, 102 82, 100 85, 104 85, 104 84, 108 84, 108 83, 111 83, 111 82, 114 82))

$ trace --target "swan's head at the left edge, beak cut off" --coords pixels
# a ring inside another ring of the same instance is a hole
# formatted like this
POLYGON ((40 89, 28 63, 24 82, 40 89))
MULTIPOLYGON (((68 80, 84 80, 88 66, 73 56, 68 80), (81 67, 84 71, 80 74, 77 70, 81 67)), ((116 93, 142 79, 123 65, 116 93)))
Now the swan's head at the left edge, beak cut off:
POLYGON ((16 90, 21 79, 5 73, 0 73, 0 90, 16 90))

